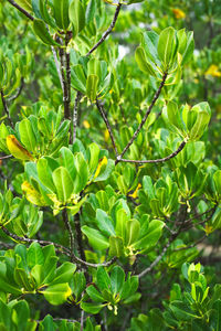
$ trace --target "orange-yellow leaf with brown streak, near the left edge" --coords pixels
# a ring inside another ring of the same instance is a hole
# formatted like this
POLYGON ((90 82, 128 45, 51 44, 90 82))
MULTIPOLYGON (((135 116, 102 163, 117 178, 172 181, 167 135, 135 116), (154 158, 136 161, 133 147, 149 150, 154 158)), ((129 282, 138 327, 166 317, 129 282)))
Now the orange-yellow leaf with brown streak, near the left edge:
POLYGON ((32 154, 21 146, 13 135, 7 137, 7 147, 14 158, 20 160, 33 160, 32 154))

